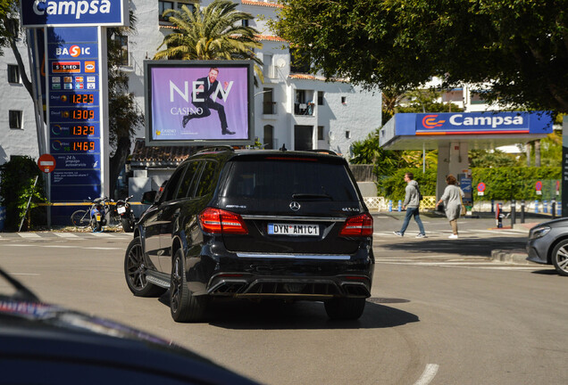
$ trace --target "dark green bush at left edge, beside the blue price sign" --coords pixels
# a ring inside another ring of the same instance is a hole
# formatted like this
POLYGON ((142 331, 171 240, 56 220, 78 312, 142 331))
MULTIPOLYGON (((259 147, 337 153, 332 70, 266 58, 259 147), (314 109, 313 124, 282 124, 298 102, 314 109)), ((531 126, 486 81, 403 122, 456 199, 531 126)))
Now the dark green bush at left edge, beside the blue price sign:
POLYGON ((46 201, 44 179, 38 165, 29 157, 14 157, 0 166, 0 206, 6 208, 5 231, 17 231, 20 227, 32 190, 34 193, 29 206, 28 229, 31 224, 46 222, 45 210, 32 210, 38 207, 38 202, 46 201), (38 184, 33 189, 36 176, 38 184))

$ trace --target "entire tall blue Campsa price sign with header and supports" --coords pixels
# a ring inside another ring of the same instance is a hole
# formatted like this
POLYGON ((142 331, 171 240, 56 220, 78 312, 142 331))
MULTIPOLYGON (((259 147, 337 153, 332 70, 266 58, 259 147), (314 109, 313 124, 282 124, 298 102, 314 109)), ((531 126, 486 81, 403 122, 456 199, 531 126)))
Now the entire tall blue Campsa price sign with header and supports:
MULTIPOLYGON (((38 82, 47 130, 39 147, 46 143, 44 153, 56 164, 47 180, 48 198, 82 202, 109 195, 106 28, 129 25, 129 2, 19 3, 21 26, 42 32, 29 35, 31 64, 41 74, 36 80, 45 79, 38 82)), ((54 207, 52 214, 63 224, 69 222, 67 211, 54 207)))

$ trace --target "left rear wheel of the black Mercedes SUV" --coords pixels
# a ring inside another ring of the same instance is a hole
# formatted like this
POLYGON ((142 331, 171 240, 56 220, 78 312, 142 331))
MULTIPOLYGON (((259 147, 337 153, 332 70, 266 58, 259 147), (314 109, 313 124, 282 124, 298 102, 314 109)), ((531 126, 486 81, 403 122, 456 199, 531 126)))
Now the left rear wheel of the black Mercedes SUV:
POLYGON ((175 322, 199 322, 205 317, 208 298, 193 296, 188 289, 183 251, 176 251, 171 264, 170 311, 175 322))

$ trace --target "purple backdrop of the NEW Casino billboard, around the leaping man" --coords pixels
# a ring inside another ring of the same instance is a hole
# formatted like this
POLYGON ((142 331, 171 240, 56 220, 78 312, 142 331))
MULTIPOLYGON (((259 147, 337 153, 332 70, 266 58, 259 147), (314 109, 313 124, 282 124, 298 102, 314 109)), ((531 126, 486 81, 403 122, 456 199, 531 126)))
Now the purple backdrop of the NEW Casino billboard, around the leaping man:
MULTIPOLYGON (((226 100, 221 99, 220 93, 214 102, 224 107, 227 129, 235 134, 221 134, 221 120, 218 111, 215 110, 211 110, 211 115, 205 118, 189 120, 186 127, 182 127, 183 117, 188 111, 196 111, 191 95, 193 82, 198 78, 206 78, 210 68, 211 66, 154 67, 151 69, 151 134, 154 141, 248 139, 247 67, 218 66, 217 81, 221 86, 224 82, 230 85, 225 91, 225 93, 229 92, 226 94, 226 100)), ((212 98, 214 95, 215 93, 212 98)))

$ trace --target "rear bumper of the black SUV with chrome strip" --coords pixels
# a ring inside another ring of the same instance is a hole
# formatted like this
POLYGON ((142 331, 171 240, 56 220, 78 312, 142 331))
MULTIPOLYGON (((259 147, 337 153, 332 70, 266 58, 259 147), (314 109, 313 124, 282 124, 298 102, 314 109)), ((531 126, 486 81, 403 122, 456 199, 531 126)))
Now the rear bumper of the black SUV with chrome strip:
POLYGON ((208 295, 306 300, 371 297, 374 259, 366 250, 351 256, 229 254, 217 260, 217 268, 209 275, 208 295))

